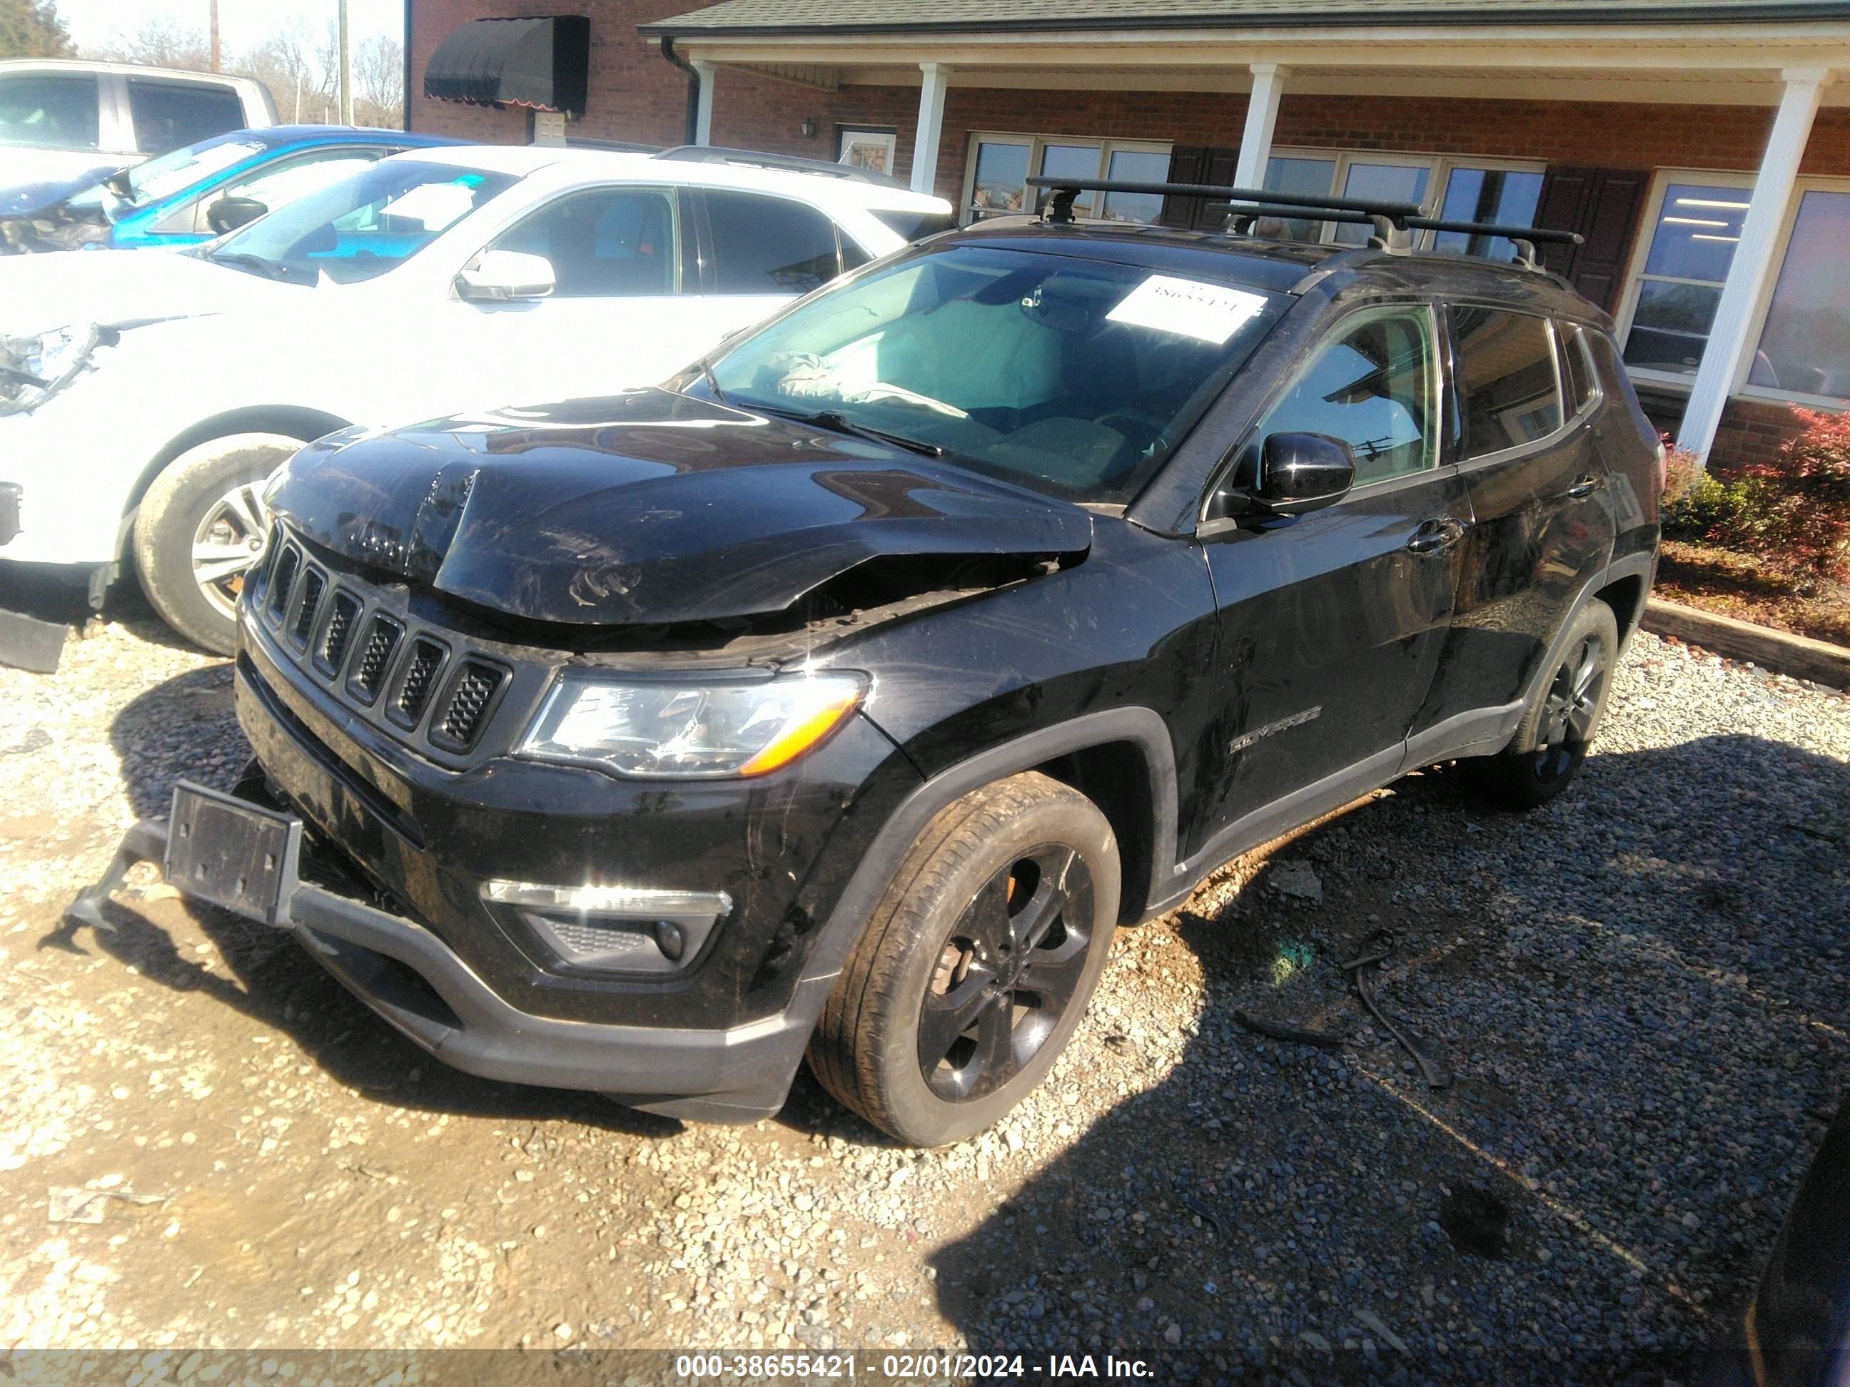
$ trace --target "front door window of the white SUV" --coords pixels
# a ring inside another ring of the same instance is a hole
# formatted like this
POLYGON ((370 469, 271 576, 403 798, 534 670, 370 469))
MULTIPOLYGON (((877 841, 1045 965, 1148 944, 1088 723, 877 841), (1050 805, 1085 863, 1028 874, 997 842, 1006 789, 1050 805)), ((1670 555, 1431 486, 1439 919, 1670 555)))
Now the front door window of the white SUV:
POLYGON ((679 244, 670 192, 599 189, 542 207, 505 231, 492 250, 551 261, 555 298, 636 298, 679 288, 679 244))

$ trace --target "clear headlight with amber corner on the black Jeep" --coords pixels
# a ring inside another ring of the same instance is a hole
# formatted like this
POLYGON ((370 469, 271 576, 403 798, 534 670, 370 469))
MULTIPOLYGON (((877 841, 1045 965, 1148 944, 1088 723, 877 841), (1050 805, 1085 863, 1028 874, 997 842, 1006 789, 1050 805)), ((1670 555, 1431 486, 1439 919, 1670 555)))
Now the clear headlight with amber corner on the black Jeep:
POLYGON ((827 738, 866 692, 858 675, 755 682, 570 675, 548 695, 524 756, 622 775, 766 775, 827 738))

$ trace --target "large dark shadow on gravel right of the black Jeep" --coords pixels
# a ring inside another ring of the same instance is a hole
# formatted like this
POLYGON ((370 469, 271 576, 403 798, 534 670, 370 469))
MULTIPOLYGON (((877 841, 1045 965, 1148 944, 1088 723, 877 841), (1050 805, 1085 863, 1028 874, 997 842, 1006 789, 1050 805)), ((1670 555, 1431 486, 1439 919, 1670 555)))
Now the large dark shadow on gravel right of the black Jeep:
POLYGON ((942 1313, 1178 1381, 1691 1381, 1850 1082, 1846 830, 1850 767, 1746 736, 1595 756, 1532 816, 1402 779, 1273 851, 1321 904, 1267 867, 1180 912, 1182 1062, 1080 1032, 1058 1086, 1130 1097, 932 1254, 942 1313), (1450 1089, 1349 993, 1380 928, 1450 1089))

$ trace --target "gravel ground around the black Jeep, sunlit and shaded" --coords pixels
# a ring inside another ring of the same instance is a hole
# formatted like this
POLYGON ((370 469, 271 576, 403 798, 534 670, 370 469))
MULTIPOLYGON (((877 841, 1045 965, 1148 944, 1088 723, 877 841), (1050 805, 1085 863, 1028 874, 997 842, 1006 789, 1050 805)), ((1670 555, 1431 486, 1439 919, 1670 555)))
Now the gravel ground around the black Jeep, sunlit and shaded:
POLYGON ((113 934, 59 930, 176 777, 235 777, 229 682, 148 621, 0 671, 0 1344, 1671 1381, 1850 1076, 1850 703, 1650 636, 1563 801, 1415 775, 1241 860, 1119 936, 1034 1099, 929 1154, 807 1076, 779 1121, 683 1128, 453 1074, 152 875, 113 934), (1382 1006, 1449 1089, 1347 991, 1382 928, 1382 1006), (100 1222, 54 1221, 67 1191, 100 1222))

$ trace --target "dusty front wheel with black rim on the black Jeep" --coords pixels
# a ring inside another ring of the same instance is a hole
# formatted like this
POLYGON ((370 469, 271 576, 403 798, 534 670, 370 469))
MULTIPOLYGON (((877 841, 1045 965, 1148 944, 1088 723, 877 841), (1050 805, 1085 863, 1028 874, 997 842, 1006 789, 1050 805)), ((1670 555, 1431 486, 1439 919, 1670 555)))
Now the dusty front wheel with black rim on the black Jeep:
POLYGON ((956 801, 906 853, 836 978, 810 1037, 816 1078, 914 1147, 992 1126, 1079 1028, 1119 878, 1110 823, 1058 780, 1025 773, 956 801))

